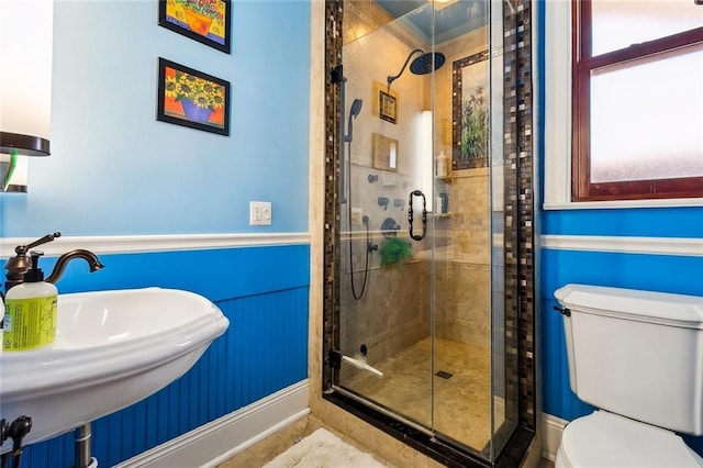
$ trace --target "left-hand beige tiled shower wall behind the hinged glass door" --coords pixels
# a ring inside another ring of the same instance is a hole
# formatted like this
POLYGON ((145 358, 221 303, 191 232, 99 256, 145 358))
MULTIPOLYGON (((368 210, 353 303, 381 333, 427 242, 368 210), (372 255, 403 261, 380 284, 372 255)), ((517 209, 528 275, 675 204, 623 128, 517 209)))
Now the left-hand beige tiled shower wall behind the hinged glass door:
MULTIPOLYGON (((399 102, 395 124, 378 118, 377 103, 379 89, 388 90, 386 77, 398 71, 397 67, 403 64, 410 51, 426 45, 420 44, 402 27, 389 25, 391 18, 371 1, 345 2, 344 8, 346 105, 348 108, 354 99, 362 99, 364 104, 358 119, 354 120, 353 142, 345 145, 352 170, 346 174, 350 186, 345 190, 346 202, 338 210, 342 235, 336 244, 339 255, 337 290, 343 311, 338 319, 338 346, 343 354, 354 355, 364 344, 368 347, 367 359, 373 364, 429 333, 428 299, 426 289, 423 291, 422 288, 422 285, 428 285, 425 270, 429 264, 419 259, 427 245, 410 242, 406 222, 408 194, 419 187, 414 158, 419 152, 416 116, 427 107, 423 90, 426 79, 408 73, 393 82, 390 92, 399 102), (375 167, 373 134, 399 142, 397 171, 375 167), (388 204, 379 204, 380 199, 387 199, 388 204), (349 226, 349 208, 360 210, 368 218, 368 226, 364 223, 349 226), (386 222, 397 225, 397 231, 382 230, 386 222), (381 266, 387 237, 397 236, 410 242, 414 259, 402 265, 381 266), (368 256, 367 242, 378 247, 368 256), (352 266, 354 290, 359 299, 353 296, 352 266)), ((346 120, 345 114, 345 123, 346 120)))

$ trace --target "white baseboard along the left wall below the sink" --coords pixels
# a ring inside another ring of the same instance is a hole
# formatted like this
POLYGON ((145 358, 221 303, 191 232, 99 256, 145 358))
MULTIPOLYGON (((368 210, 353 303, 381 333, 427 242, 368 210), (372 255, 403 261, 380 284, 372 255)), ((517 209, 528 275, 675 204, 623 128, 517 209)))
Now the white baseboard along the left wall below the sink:
POLYGON ((132 457, 116 468, 216 467, 309 413, 305 379, 132 457))

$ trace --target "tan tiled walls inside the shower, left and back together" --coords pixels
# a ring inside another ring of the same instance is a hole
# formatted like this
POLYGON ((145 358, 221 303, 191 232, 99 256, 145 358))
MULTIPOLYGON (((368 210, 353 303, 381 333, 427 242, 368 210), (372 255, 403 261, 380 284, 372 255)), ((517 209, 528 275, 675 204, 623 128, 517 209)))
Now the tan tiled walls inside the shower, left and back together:
MULTIPOLYGON (((406 198, 410 190, 417 188, 417 180, 409 175, 417 174, 417 169, 414 168, 413 161, 408 160, 417 152, 409 144, 414 140, 412 134, 416 133, 416 129, 406 122, 417 115, 420 110, 428 108, 424 101, 429 99, 423 96, 422 89, 431 81, 426 77, 416 77, 408 73, 393 83, 393 89, 399 94, 400 109, 404 111, 404 114, 399 115, 398 125, 394 125, 379 119, 369 119, 370 114, 378 115, 373 102, 377 85, 371 86, 369 80, 378 81, 383 78, 383 74, 395 73, 395 69, 389 68, 389 64, 402 64, 412 47, 427 49, 431 44, 420 44, 417 38, 397 24, 379 29, 389 21, 388 14, 373 2, 345 3, 343 37, 345 76, 348 78, 346 100, 348 104, 352 99, 364 98, 364 109, 359 119, 355 121, 354 144, 346 147, 347 157, 353 161, 352 174, 348 175, 352 189, 347 193, 347 204, 339 211, 343 232, 343 241, 337 246, 341 250, 342 271, 339 298, 341 310, 345 311, 341 319, 341 345, 343 348, 345 345, 350 347, 343 349, 346 354, 358 349, 364 343, 370 349, 369 360, 376 361, 427 336, 431 330, 427 322, 429 296, 427 288, 424 294, 421 290, 423 285, 433 283, 429 264, 432 258, 427 249, 432 248, 433 242, 429 239, 434 236, 434 246, 440 247, 435 249, 434 256, 437 259, 437 277, 434 282, 437 336, 480 346, 488 353, 491 332, 491 243, 489 171, 486 167, 457 170, 449 178, 437 179, 437 192, 444 191, 449 194, 451 213, 446 216, 431 216, 431 235, 425 242, 411 243, 413 260, 405 266, 380 268, 380 253, 371 252, 368 256, 369 270, 365 275, 366 226, 352 226, 355 239, 353 264, 357 296, 364 285, 368 292, 361 300, 355 301, 349 291, 349 239, 344 234, 348 231, 348 205, 361 210, 362 214, 368 216, 370 242, 382 248, 384 238, 379 230, 387 219, 399 225, 399 235, 408 238, 406 198), (378 52, 379 44, 383 47, 382 53, 378 52), (382 57, 382 60, 376 63, 377 57, 382 57), (399 172, 373 168, 372 152, 369 151, 372 132, 392 135, 401 142, 399 172), (388 207, 378 205, 379 197, 389 200, 388 207), (392 293, 393 291, 395 293, 392 293), (384 332, 386 327, 380 324, 379 317, 387 316, 390 317, 390 323, 400 323, 394 317, 404 319, 405 326, 402 327, 400 336, 384 332), (352 321, 356 324, 352 325, 352 321), (371 323, 376 325, 372 326, 371 323), (376 352, 371 350, 371 345, 377 347, 376 352)), ((481 27, 437 46, 448 59, 447 66, 436 73, 434 137, 437 154, 451 154, 453 88, 456 83, 449 64, 467 55, 484 52, 488 47, 487 41, 488 27, 481 27)))

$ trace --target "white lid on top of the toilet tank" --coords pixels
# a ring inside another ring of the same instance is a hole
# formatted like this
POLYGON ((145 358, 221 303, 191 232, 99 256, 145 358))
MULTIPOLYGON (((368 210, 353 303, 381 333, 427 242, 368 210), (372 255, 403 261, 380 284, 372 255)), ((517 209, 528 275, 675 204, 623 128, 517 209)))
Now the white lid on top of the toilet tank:
POLYGON ((703 328, 703 297, 669 292, 566 285, 554 292, 567 309, 644 322, 703 328))

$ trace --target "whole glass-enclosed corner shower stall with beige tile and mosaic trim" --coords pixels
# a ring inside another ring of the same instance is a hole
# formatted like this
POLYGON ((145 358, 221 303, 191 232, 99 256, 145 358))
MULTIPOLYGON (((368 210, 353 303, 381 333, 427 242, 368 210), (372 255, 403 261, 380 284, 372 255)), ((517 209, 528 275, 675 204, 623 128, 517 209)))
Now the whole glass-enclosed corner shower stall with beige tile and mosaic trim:
POLYGON ((496 465, 534 432, 505 44, 522 3, 332 3, 323 390, 447 465, 496 465))

